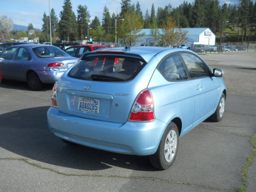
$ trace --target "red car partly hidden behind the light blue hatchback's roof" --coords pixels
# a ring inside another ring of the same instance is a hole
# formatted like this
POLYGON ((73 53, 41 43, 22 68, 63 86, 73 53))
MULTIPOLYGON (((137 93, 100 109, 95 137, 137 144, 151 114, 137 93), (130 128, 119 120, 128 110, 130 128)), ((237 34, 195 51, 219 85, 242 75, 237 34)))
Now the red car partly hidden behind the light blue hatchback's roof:
POLYGON ((102 48, 108 47, 105 45, 74 45, 65 49, 65 52, 67 52, 67 54, 70 54, 70 56, 81 58, 84 52, 96 51, 102 48))

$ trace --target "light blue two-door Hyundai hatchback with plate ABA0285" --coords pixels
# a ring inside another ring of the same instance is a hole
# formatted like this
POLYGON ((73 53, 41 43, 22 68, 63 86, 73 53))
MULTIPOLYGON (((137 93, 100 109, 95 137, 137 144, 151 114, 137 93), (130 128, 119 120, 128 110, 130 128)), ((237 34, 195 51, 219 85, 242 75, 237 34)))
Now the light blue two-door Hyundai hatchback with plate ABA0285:
POLYGON ((54 85, 49 129, 65 143, 149 156, 165 170, 179 137, 209 117, 223 118, 227 90, 221 76, 222 70, 211 70, 186 49, 88 52, 54 85))

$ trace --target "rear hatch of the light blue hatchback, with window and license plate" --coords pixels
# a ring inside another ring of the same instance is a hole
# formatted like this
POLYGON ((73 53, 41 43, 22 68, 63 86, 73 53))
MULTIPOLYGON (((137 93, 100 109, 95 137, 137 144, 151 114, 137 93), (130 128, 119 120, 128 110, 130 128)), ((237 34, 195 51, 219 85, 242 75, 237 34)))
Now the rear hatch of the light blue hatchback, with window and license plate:
POLYGON ((84 57, 61 77, 58 108, 62 113, 124 124, 134 100, 148 86, 141 58, 122 54, 84 57), (118 62, 116 62, 118 60, 118 62))

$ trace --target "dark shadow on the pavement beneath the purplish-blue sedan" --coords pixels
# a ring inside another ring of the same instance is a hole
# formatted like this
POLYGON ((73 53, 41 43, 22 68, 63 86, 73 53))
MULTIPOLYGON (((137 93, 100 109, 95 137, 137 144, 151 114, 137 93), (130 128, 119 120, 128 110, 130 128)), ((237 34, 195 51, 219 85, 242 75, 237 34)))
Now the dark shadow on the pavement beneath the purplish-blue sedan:
MULTIPOLYGON (((40 91, 52 90, 53 85, 54 85, 53 83, 44 84, 42 90, 40 91)), ((29 89, 28 84, 23 81, 13 81, 13 80, 2 79, 0 86, 3 88, 13 89, 13 90, 32 91, 29 89)))

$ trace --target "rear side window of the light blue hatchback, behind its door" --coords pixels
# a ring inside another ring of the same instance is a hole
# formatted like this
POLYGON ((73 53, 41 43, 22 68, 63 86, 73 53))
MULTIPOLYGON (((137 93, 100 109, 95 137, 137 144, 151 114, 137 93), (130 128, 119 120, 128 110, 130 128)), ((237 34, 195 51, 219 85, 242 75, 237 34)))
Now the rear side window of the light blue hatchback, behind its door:
POLYGON ((188 75, 178 54, 172 54, 168 58, 165 58, 159 65, 158 70, 167 81, 188 79, 188 75))

